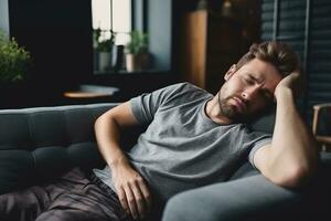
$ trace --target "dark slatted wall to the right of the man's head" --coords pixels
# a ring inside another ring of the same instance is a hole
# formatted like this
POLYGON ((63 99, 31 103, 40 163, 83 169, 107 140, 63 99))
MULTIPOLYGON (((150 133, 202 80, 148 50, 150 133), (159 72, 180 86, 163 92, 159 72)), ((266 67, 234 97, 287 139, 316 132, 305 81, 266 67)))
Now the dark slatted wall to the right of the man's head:
POLYGON ((300 55, 307 81, 303 97, 298 102, 300 110, 311 122, 312 106, 331 101, 331 1, 308 2, 279 0, 278 17, 274 17, 275 1, 264 0, 261 39, 276 36, 300 55))

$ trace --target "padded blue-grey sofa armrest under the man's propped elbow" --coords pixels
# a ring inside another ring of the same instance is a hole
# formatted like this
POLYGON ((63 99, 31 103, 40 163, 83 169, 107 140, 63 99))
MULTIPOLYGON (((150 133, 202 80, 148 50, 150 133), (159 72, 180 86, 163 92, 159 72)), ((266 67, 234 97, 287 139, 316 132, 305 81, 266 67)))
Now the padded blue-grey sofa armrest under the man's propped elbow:
POLYGON ((271 183, 247 162, 227 182, 171 198, 162 221, 330 220, 331 154, 321 152, 320 169, 300 189, 271 183))

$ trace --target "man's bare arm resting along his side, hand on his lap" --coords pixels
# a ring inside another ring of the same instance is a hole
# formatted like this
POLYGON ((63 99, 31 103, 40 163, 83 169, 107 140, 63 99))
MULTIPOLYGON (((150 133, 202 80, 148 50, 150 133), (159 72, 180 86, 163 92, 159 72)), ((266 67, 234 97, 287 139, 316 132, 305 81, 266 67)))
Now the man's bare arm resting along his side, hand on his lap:
POLYGON ((149 210, 150 192, 143 178, 130 166, 119 138, 122 128, 137 124, 128 102, 109 109, 95 123, 98 148, 111 169, 119 201, 134 219, 143 218, 149 210))

